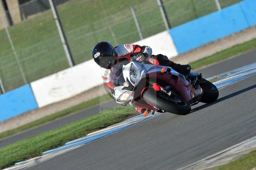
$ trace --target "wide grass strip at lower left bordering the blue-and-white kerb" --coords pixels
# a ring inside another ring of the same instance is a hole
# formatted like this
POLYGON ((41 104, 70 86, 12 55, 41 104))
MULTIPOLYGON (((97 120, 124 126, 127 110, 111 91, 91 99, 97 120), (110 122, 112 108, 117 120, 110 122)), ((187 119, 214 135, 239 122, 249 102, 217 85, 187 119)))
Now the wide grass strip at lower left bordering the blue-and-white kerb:
POLYGON ((83 137, 88 133, 106 128, 136 114, 131 106, 126 110, 104 111, 91 117, 70 123, 40 135, 0 148, 0 169, 12 166, 16 162, 35 157, 65 144, 68 141, 83 137))

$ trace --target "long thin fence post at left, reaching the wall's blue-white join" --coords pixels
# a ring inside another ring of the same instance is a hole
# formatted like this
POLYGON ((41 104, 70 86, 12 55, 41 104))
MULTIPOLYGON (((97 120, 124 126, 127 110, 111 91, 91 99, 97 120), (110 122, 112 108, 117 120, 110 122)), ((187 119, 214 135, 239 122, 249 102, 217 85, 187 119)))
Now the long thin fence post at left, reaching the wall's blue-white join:
POLYGON ((9 42, 10 42, 10 44, 11 44, 12 51, 13 51, 13 54, 14 54, 14 56, 15 56, 16 62, 17 62, 17 64, 18 64, 18 66, 19 66, 22 79, 23 79, 24 83, 27 84, 28 81, 27 81, 27 79, 26 79, 26 77, 25 77, 25 74, 24 74, 24 71, 23 71, 23 69, 22 69, 22 67, 21 67, 21 65, 20 65, 20 60, 19 60, 19 58, 18 58, 17 52, 16 52, 16 50, 15 50, 15 47, 14 47, 14 45, 13 45, 13 43, 12 43, 12 38, 11 38, 11 35, 10 35, 9 31, 8 31, 8 28, 7 28, 6 24, 5 24, 4 16, 3 16, 3 15, 1 15, 1 19, 2 19, 2 22, 3 22, 3 25, 4 25, 4 29, 5 29, 5 32, 6 32, 6 34, 7 34, 8 40, 9 40, 9 42))

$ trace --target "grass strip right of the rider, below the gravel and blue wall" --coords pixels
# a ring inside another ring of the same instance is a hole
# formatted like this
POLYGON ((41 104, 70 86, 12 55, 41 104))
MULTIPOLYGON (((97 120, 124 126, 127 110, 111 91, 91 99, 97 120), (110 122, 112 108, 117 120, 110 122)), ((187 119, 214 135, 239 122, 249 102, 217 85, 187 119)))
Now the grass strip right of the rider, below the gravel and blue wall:
POLYGON ((209 57, 205 57, 200 60, 191 62, 191 63, 189 63, 189 65, 191 65, 191 67, 193 67, 194 69, 198 69, 200 67, 207 66, 209 64, 218 62, 223 59, 230 58, 232 56, 244 53, 249 50, 253 50, 255 48, 256 48, 256 39, 253 39, 251 41, 248 41, 248 42, 245 42, 242 44, 238 44, 238 45, 235 45, 226 50, 220 51, 220 52, 213 54, 209 57))

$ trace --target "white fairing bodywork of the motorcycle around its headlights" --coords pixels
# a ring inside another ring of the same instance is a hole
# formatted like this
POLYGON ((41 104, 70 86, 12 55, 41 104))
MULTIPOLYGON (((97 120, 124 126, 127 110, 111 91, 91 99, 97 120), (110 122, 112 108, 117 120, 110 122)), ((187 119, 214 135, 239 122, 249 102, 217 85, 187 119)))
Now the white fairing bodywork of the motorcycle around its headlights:
MULTIPOLYGON (((154 73, 154 72, 159 72, 161 71, 161 68, 155 68, 155 69, 152 69, 152 70, 149 70, 151 67, 154 67, 155 65, 151 65, 151 64, 142 64, 142 63, 139 63, 139 62, 130 62, 129 64, 127 65, 123 65, 123 76, 124 77, 124 80, 125 82, 127 83, 126 86, 116 86, 114 88, 115 90, 115 95, 112 95, 115 99, 116 99, 116 103, 119 103, 119 104, 127 104, 129 102, 132 101, 133 99, 133 94, 134 94, 134 87, 136 87, 138 85, 138 83, 140 82, 140 80, 142 78, 144 78, 146 76, 146 74, 148 73, 154 73), (130 70, 131 70, 131 66, 135 66, 137 68, 137 76, 136 76, 136 80, 135 80, 135 83, 132 83, 132 80, 131 80, 131 73, 130 73, 130 70), (149 71, 148 71, 149 70, 149 71), (129 80, 129 81, 127 81, 129 80), (130 85, 130 83, 132 84, 133 88, 131 89, 124 89, 125 87, 132 87, 130 85), (130 86, 129 86, 130 85, 130 86), (118 101, 118 98, 125 92, 131 92, 131 95, 124 101, 124 102, 120 102, 118 101)), ((167 66, 164 66, 165 69, 167 68, 170 68, 171 69, 171 73, 173 74, 178 74, 180 75, 181 77, 184 77, 182 74, 176 72, 175 70, 172 69, 172 67, 167 67, 167 66)), ((184 77, 185 79, 185 77, 184 77)))

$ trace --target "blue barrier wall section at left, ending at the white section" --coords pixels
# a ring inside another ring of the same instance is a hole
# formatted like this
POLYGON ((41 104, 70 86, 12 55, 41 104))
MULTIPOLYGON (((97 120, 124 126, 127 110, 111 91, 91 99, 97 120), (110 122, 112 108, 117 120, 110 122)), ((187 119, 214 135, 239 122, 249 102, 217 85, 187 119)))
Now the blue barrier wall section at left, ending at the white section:
POLYGON ((0 96, 0 121, 36 109, 36 99, 29 84, 0 96))

